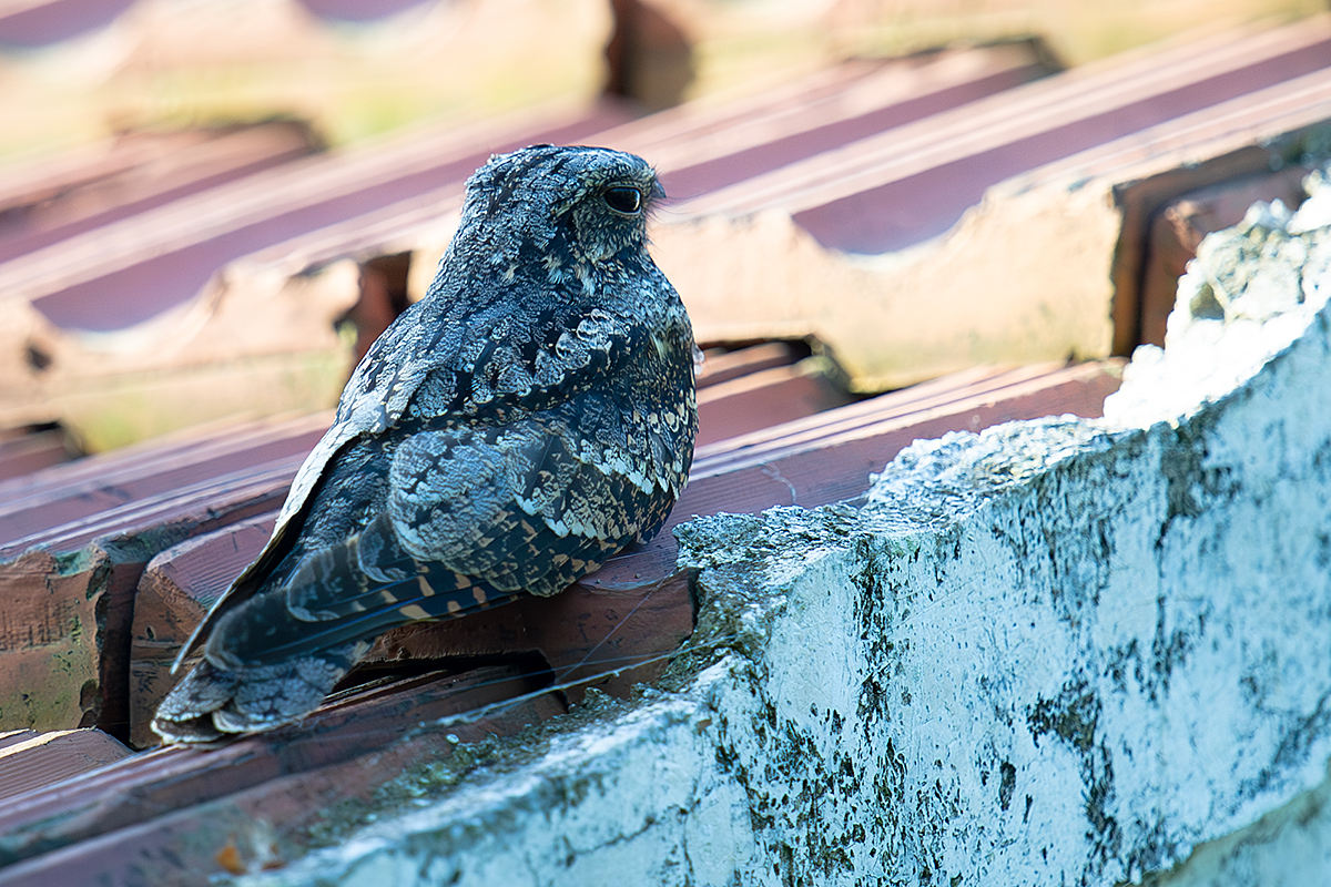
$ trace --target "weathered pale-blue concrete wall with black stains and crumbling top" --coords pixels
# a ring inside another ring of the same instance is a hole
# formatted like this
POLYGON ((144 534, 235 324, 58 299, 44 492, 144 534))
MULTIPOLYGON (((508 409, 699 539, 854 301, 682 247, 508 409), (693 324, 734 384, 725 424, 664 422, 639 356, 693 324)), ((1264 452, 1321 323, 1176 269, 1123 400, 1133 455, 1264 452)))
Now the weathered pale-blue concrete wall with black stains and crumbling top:
POLYGON ((659 688, 405 774, 250 883, 1324 883, 1328 221, 1323 189, 1213 235, 1103 422, 687 525, 659 688))

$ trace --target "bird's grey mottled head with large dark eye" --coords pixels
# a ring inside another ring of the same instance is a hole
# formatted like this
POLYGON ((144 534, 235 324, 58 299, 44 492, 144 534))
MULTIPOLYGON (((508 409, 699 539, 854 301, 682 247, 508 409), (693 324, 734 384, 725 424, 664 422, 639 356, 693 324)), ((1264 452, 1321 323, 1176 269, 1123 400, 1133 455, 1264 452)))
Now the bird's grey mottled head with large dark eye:
POLYGON ((534 145, 491 157, 467 181, 458 238, 483 243, 492 265, 534 258, 571 270, 642 251, 664 197, 634 154, 534 145))

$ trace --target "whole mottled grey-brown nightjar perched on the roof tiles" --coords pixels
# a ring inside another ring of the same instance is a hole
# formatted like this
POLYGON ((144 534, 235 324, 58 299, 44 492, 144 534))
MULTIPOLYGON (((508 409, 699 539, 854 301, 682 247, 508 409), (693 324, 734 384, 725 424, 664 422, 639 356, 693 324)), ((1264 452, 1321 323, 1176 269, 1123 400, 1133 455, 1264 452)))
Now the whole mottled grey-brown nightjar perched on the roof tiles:
POLYGON ((426 295, 353 371, 273 535, 181 648, 168 743, 301 721, 399 625, 550 596, 664 524, 693 459, 692 324, 647 161, 492 156, 426 295))

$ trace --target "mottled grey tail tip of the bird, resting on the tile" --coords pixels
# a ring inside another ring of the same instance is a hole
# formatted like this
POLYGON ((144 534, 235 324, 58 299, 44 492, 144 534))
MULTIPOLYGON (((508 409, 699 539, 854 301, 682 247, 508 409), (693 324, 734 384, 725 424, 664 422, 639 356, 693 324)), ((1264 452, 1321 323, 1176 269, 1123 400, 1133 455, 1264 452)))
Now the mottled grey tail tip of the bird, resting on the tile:
POLYGON ((367 648, 347 644, 237 669, 205 658, 162 699, 153 730, 166 742, 200 743, 293 723, 318 707, 367 648))

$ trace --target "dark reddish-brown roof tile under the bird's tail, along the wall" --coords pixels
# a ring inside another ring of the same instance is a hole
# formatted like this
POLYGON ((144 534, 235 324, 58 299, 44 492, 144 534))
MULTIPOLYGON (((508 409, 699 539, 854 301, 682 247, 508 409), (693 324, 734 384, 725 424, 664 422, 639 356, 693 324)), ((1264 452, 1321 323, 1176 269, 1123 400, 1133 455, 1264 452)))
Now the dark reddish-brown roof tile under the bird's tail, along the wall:
POLYGON ((514 666, 426 674, 333 698, 294 729, 213 750, 149 751, 19 795, 0 810, 0 834, 7 862, 28 862, 8 866, 0 880, 120 883, 146 864, 164 879, 197 883, 237 874, 232 863, 256 863, 269 840, 280 860, 291 838, 325 817, 354 818, 358 799, 403 785, 399 777, 564 711, 539 690, 539 677, 514 666), (258 823, 264 846, 252 840, 258 823))

